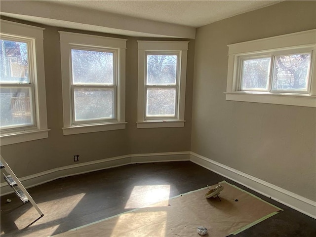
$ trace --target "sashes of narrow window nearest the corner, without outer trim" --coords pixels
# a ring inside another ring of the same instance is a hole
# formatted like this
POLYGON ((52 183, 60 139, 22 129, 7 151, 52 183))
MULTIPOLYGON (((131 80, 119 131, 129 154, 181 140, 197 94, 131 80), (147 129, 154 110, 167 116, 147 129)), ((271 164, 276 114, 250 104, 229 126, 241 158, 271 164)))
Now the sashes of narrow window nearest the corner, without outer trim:
POLYGON ((177 118, 179 55, 180 52, 146 52, 146 120, 177 118))

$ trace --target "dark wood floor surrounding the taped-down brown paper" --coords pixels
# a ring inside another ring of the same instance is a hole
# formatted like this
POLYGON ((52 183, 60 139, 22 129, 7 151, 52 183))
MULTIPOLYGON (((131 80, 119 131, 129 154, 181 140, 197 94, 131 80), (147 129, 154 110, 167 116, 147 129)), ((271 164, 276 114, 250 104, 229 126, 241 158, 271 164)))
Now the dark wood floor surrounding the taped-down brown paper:
MULTIPOLYGON (((58 179, 28 189, 45 216, 14 195, 1 197, 1 237, 47 237, 125 212, 135 186, 164 185, 173 197, 226 180, 284 209, 237 237, 316 237, 316 220, 190 161, 132 164, 58 179), (12 201, 6 203, 6 199, 12 201)), ((254 210, 255 211, 255 210, 254 210)), ((211 235, 210 235, 211 236, 211 235)))

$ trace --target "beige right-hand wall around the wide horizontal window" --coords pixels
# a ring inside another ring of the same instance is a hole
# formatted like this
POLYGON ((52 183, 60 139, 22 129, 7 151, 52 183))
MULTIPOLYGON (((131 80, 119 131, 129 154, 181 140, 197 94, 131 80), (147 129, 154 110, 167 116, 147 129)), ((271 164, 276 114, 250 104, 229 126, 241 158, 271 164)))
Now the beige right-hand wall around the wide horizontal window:
POLYGON ((315 1, 285 1, 197 29, 193 152, 316 200, 315 108, 226 101, 227 44, 316 28, 315 1))

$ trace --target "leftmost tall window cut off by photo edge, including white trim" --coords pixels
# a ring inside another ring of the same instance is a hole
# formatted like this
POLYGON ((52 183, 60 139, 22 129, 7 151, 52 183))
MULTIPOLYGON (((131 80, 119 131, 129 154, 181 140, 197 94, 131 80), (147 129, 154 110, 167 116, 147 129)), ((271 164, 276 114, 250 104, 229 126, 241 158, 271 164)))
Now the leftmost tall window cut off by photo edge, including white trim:
POLYGON ((1 145, 48 137, 43 30, 1 20, 1 145))

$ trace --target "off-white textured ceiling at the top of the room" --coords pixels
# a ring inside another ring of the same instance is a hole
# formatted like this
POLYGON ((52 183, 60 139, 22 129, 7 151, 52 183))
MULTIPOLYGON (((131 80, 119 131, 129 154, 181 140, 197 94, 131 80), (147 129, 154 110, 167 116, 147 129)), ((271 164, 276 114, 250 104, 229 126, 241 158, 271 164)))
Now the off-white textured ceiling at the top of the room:
POLYGON ((119 15, 200 27, 280 0, 46 0, 119 15))

